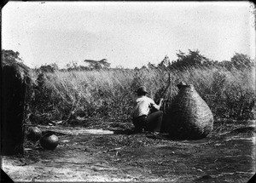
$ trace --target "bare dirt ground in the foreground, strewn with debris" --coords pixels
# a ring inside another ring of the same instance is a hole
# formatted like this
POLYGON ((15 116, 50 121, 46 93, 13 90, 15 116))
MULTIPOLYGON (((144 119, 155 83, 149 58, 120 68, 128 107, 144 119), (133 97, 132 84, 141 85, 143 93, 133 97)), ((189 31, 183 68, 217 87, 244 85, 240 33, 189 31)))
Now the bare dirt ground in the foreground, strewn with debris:
POLYGON ((39 128, 55 131, 59 145, 49 151, 26 141, 24 157, 2 157, 14 181, 247 182, 256 172, 252 124, 215 130, 202 140, 118 128, 39 128))

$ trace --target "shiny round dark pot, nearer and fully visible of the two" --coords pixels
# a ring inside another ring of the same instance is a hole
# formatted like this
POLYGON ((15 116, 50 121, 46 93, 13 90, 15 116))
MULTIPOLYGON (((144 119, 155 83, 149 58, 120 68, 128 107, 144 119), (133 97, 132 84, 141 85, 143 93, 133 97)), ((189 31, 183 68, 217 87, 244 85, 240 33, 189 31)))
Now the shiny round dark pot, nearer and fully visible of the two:
POLYGON ((59 138, 55 134, 44 134, 40 140, 40 145, 47 150, 54 150, 59 144, 59 138))

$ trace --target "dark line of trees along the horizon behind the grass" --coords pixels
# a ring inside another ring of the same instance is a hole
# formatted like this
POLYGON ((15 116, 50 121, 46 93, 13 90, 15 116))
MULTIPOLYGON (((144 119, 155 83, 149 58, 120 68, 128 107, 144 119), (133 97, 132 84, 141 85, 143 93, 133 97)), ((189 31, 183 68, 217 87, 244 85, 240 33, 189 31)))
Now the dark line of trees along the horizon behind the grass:
MULTIPOLYGON (((15 52, 13 50, 5 50, 2 49, 2 59, 4 61, 13 61, 16 60, 18 62, 22 62, 20 59, 20 53, 15 52)), ((54 72, 54 71, 93 71, 93 70, 124 70, 122 67, 111 67, 111 64, 107 59, 102 60, 84 60, 84 64, 87 66, 80 66, 77 62, 72 61, 67 64, 67 68, 60 69, 57 64, 48 64, 44 66, 40 66, 36 68, 36 71, 42 72, 54 72)), ((135 67, 134 70, 141 69, 160 69, 166 71, 179 70, 183 71, 188 69, 189 67, 224 67, 227 70, 231 70, 233 68, 243 70, 247 67, 254 66, 254 60, 252 60, 247 54, 235 53, 230 60, 211 60, 200 53, 198 49, 190 50, 186 54, 181 50, 177 53, 177 60, 170 60, 168 55, 164 57, 163 60, 160 61, 158 65, 154 65, 148 62, 147 66, 142 66, 141 68, 135 67)))

